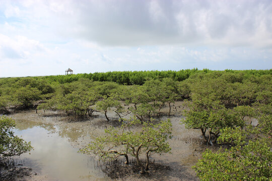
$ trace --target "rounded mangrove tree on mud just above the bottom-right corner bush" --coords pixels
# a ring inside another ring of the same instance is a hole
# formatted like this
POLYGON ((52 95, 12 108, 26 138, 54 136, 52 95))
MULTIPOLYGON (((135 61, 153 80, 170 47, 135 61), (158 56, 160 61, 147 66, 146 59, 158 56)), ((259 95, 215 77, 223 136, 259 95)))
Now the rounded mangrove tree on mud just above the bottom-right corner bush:
MULTIPOLYGON (((211 103, 211 102, 210 102, 211 103)), ((195 101, 188 104, 189 110, 185 110, 185 119, 182 123, 186 128, 200 129, 202 137, 210 144, 215 144, 220 136, 221 129, 243 128, 246 125, 245 118, 253 119, 257 116, 255 110, 249 106, 238 106, 234 109, 226 109, 223 106, 205 106, 195 101)))

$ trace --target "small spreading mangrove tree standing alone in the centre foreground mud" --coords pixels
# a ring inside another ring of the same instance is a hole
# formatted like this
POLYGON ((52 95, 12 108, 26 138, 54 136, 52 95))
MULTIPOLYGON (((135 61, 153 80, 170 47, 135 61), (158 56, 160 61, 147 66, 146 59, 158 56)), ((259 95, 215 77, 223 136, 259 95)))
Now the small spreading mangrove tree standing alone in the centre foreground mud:
POLYGON ((141 173, 149 170, 149 158, 152 154, 163 154, 171 150, 167 139, 171 138, 172 124, 170 120, 161 121, 159 124, 143 123, 139 131, 133 131, 131 126, 141 124, 139 119, 124 120, 121 128, 110 127, 105 129, 105 136, 97 137, 95 141, 81 149, 82 153, 98 155, 100 159, 115 159, 119 156, 126 158, 135 157, 141 173), (140 160, 140 155, 145 154, 146 165, 140 160))

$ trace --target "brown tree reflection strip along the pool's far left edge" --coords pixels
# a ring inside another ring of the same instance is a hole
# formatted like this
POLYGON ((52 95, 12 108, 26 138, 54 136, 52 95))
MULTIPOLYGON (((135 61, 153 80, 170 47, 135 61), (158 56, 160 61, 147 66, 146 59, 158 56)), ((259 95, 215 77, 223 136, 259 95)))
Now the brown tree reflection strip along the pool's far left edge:
POLYGON ((31 121, 31 120, 15 120, 15 121, 16 121, 16 129, 20 131, 31 129, 33 127, 38 126, 38 127, 44 128, 47 131, 55 132, 55 128, 53 124, 40 123, 36 121, 31 121))

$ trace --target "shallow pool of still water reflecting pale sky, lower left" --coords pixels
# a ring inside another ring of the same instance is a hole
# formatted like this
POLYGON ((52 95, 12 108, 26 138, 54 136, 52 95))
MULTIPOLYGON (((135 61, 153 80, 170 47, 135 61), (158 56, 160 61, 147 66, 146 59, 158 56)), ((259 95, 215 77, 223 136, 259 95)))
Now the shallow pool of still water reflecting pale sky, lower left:
POLYGON ((33 168, 34 172, 46 175, 47 180, 108 180, 109 178, 97 168, 97 161, 88 155, 78 153, 65 136, 59 136, 53 125, 35 122, 17 122, 16 135, 22 135, 31 141, 34 147, 29 153, 18 157, 24 166, 33 168))

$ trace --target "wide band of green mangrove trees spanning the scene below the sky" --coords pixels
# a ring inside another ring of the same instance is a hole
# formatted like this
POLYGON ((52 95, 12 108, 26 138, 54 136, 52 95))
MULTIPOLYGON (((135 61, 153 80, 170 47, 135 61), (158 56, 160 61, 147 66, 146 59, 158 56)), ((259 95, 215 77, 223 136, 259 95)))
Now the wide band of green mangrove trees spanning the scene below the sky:
MULTIPOLYGON (((89 113, 91 106, 95 106, 93 108, 106 114, 109 108, 105 107, 105 103, 113 105, 115 101, 116 105, 116 101, 125 100, 127 104, 134 105, 134 110, 131 108, 130 111, 143 119, 144 112, 147 112, 148 117, 158 115, 162 106, 165 104, 170 106, 176 100, 197 100, 209 95, 216 96, 214 100, 225 107, 251 105, 258 96, 271 93, 266 89, 270 85, 271 73, 272 69, 242 71, 192 69, 2 78, 0 111, 8 113, 13 109, 33 107, 38 104, 37 101, 43 100, 47 106, 54 105, 55 108, 52 108, 54 110, 66 112, 73 110, 74 113, 80 112, 82 115, 85 114, 84 110, 89 113), (59 104, 56 104, 57 99, 59 104), (77 108, 75 99, 82 102, 78 103, 80 106, 77 108), (98 102, 101 100, 103 102, 98 102), (69 104, 70 102, 73 102, 73 106, 69 104), (138 114, 140 110, 142 113, 138 114)), ((117 107, 118 110, 122 110, 120 106, 117 107)), ((93 109, 91 113, 92 111, 93 109)))

